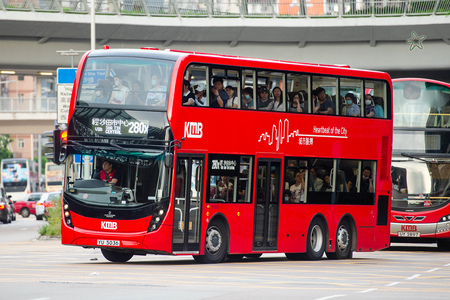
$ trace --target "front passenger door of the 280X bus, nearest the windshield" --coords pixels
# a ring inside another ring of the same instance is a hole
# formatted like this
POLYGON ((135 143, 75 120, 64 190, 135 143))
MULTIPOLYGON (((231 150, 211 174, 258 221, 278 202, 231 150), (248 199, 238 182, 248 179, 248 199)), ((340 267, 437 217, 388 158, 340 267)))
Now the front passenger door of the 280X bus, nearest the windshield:
POLYGON ((203 157, 179 155, 176 162, 173 252, 199 252, 203 157))

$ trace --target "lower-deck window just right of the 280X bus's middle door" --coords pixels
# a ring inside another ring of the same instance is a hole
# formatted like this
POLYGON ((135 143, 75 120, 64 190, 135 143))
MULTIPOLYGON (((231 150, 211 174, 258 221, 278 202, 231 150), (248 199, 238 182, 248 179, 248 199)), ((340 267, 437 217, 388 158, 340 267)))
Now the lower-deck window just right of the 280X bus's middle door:
POLYGON ((306 203, 307 161, 287 158, 284 167, 283 203, 306 203))

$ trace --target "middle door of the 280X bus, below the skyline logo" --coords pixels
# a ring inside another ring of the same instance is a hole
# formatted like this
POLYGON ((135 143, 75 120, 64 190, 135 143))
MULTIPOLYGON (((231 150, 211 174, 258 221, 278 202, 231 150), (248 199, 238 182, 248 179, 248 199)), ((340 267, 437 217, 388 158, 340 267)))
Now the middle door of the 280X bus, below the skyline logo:
POLYGON ((281 183, 281 160, 258 159, 253 250, 276 250, 281 183))

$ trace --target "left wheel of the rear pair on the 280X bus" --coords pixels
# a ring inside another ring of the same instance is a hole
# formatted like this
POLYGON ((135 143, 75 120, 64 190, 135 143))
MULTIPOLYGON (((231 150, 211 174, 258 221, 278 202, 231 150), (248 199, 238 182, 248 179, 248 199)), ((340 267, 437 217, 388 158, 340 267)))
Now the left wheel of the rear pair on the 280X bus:
POLYGON ((306 240, 306 255, 309 260, 321 259, 326 247, 325 224, 319 218, 314 219, 309 225, 306 240))

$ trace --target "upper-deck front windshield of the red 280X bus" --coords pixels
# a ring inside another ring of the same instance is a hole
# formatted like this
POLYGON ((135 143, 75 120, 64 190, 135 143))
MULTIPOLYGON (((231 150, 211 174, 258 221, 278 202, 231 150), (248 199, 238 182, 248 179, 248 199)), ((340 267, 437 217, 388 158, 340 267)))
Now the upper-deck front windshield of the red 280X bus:
POLYGON ((166 109, 173 65, 140 57, 90 57, 83 68, 77 106, 166 109))

